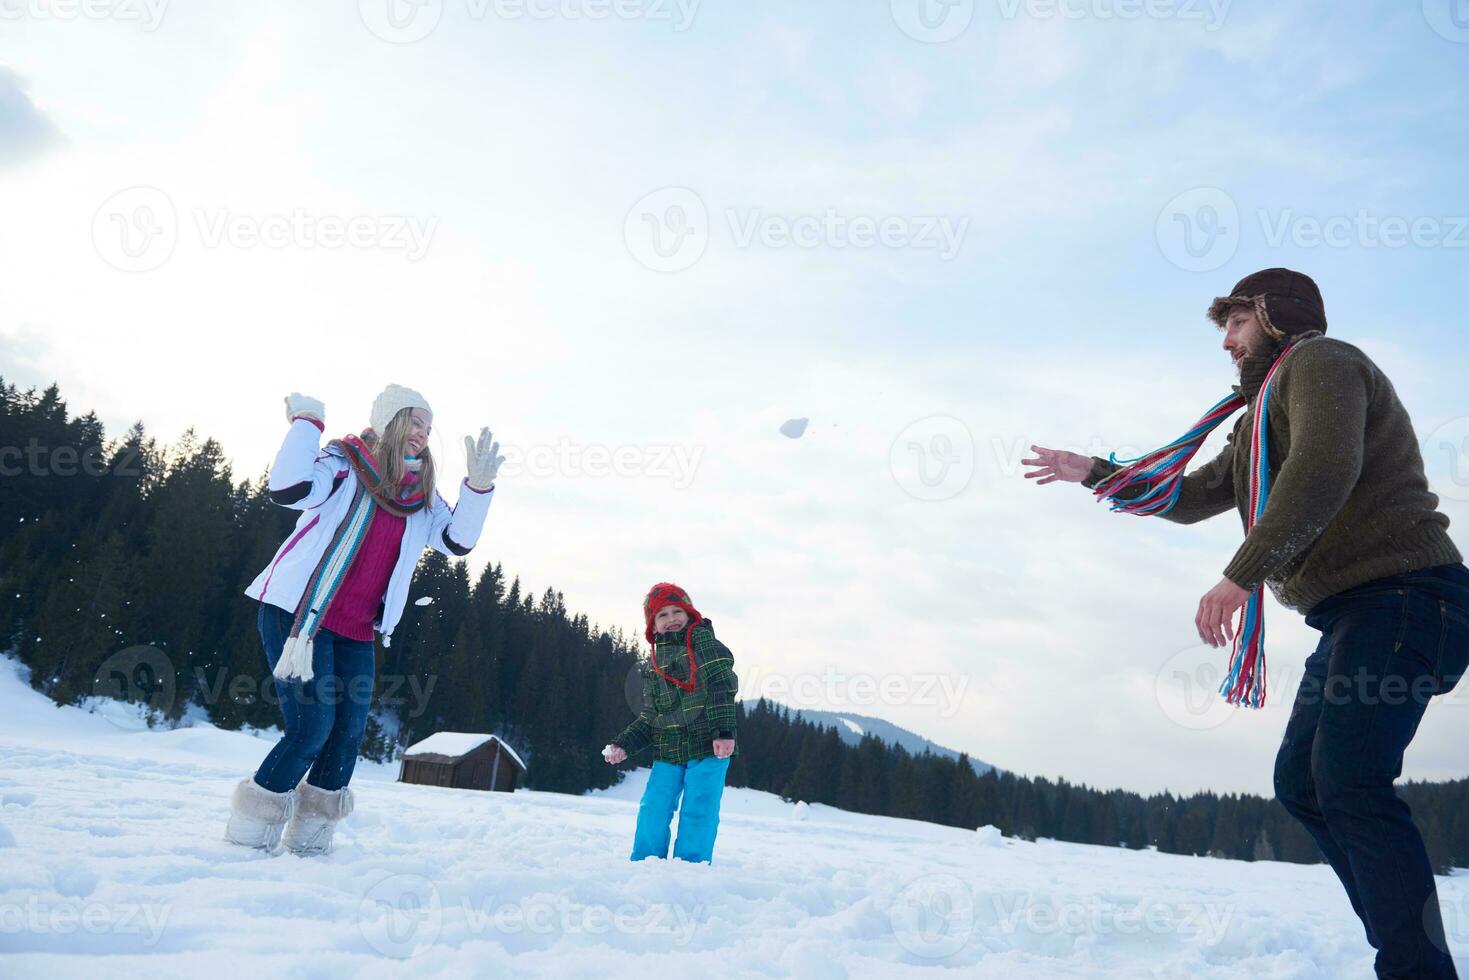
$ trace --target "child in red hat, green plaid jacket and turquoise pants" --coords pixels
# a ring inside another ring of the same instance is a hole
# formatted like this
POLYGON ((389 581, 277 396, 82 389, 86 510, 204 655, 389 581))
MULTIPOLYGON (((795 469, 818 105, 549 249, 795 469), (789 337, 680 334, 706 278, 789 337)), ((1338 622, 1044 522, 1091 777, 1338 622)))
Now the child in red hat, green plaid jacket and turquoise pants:
POLYGON ((604 758, 616 765, 654 746, 632 860, 668 857, 668 826, 679 808, 673 857, 708 862, 720 826, 724 776, 736 754, 734 655, 676 585, 663 582, 648 592, 643 619, 652 655, 643 676, 642 710, 607 746, 604 758))

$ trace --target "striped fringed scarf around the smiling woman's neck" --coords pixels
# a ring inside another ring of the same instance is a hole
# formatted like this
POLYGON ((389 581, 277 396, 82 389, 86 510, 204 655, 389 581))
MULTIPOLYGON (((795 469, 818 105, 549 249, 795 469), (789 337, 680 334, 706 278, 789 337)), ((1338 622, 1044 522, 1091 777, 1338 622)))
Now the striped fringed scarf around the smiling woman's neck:
POLYGON ((331 544, 322 552, 322 560, 316 564, 316 570, 301 594, 301 601, 295 607, 291 635, 286 636, 281 660, 276 661, 275 667, 275 676, 281 680, 300 677, 306 683, 316 676, 311 667, 314 655, 311 641, 326 619, 326 611, 332 607, 338 589, 347 580, 347 573, 351 570, 353 561, 357 560, 357 552, 361 551, 367 527, 372 525, 373 507, 378 505, 407 517, 422 510, 426 502, 423 488, 419 485, 419 475, 411 470, 404 473, 400 494, 397 497, 388 495, 382 485, 378 461, 373 458, 378 433, 372 429, 366 429, 360 436, 347 435, 341 439, 332 439, 328 445, 335 447, 347 457, 357 473, 357 483, 353 501, 347 507, 347 516, 336 526, 336 533, 332 535, 331 544))

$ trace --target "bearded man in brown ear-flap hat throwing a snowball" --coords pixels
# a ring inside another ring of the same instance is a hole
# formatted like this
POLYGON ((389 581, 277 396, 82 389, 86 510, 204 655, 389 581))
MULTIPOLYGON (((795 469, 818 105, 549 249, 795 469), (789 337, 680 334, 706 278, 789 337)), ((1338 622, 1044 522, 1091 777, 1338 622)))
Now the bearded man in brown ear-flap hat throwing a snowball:
MULTIPOLYGON (((1159 516, 1191 525, 1234 508, 1246 538, 1194 624, 1210 646, 1231 642, 1235 614, 1263 583, 1321 630, 1275 760, 1275 795, 1341 879, 1378 976, 1454 977, 1432 865, 1393 782, 1429 698, 1453 689, 1469 663, 1469 569, 1393 383, 1359 348, 1325 336, 1309 276, 1256 272, 1216 298, 1209 319, 1247 407, 1159 516), (1269 500, 1250 527, 1257 395, 1287 347, 1266 408, 1269 500)), ((1096 488, 1118 469, 1031 450, 1022 463, 1039 483, 1096 488)))

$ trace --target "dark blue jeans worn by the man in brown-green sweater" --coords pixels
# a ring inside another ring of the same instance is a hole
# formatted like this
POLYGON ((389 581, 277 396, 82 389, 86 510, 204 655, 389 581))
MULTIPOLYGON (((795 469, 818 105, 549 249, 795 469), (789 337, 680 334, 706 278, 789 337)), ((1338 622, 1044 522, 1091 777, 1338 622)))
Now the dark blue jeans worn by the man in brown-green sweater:
POLYGON ((1454 977, 1434 870, 1393 789, 1428 701, 1469 663, 1469 569, 1376 579, 1312 607, 1275 796, 1316 839, 1378 951, 1379 977, 1454 977))

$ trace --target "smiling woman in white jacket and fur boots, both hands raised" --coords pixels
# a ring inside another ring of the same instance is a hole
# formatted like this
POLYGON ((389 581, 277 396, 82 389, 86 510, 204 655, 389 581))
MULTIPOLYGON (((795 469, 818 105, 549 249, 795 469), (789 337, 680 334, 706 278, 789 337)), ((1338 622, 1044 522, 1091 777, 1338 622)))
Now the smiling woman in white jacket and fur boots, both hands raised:
POLYGON ((433 416, 411 388, 388 385, 370 428, 325 448, 325 408, 286 397, 291 429, 270 466, 270 500, 301 511, 245 594, 260 601, 260 642, 285 735, 235 786, 226 839, 325 854, 351 813, 347 783, 367 724, 373 632, 389 645, 423 548, 469 554, 504 457, 489 429, 464 438, 469 476, 451 510, 435 489, 433 416))

